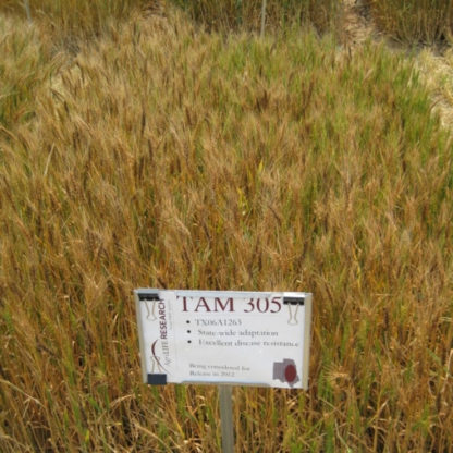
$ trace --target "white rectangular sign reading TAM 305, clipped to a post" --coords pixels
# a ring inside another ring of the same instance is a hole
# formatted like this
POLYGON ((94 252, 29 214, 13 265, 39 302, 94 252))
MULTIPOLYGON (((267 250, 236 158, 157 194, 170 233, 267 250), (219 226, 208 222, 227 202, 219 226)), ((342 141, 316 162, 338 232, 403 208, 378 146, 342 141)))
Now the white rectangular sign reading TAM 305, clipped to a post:
POLYGON ((145 383, 307 389, 311 294, 134 294, 145 383))

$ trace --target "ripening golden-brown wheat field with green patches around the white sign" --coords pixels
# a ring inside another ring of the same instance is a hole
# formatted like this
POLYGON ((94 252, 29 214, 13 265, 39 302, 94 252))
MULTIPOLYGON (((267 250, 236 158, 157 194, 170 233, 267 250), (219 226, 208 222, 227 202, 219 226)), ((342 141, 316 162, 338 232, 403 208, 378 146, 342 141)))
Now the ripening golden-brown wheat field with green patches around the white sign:
POLYGON ((29 3, 0 7, 0 451, 220 450, 216 388, 140 383, 156 286, 314 293, 309 391, 234 389, 237 452, 451 452, 451 3, 364 2, 391 50, 327 0, 269 0, 264 38, 259 1, 29 3))

